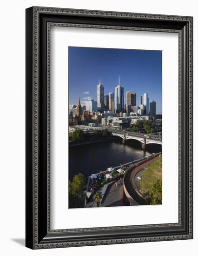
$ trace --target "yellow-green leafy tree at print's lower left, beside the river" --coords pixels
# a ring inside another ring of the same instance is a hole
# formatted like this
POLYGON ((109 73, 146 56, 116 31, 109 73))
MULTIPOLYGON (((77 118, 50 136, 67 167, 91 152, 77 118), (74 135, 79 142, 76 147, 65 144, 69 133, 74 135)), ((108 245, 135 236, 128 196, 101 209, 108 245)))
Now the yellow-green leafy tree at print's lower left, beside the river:
POLYGON ((75 175, 72 182, 69 181, 69 205, 71 208, 79 206, 85 183, 85 176, 81 173, 75 175))

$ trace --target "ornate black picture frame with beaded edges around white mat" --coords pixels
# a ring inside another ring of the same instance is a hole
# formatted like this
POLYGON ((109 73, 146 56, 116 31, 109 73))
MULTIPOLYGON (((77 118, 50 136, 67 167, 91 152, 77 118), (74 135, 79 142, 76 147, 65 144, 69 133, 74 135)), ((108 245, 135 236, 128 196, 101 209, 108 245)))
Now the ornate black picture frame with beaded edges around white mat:
POLYGON ((26 9, 26 247, 31 249, 192 239, 193 18, 50 7, 26 9), (178 33, 178 223, 50 229, 50 27, 178 33))

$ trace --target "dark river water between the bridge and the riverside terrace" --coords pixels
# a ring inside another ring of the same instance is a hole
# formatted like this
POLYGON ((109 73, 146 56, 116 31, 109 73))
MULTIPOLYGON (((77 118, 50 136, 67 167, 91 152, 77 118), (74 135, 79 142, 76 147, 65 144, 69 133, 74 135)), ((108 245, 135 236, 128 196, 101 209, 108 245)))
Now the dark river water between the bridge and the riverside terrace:
POLYGON ((87 180, 93 173, 160 151, 161 145, 158 144, 149 144, 144 151, 141 142, 128 140, 123 144, 121 139, 69 148, 69 179, 81 172, 87 180))

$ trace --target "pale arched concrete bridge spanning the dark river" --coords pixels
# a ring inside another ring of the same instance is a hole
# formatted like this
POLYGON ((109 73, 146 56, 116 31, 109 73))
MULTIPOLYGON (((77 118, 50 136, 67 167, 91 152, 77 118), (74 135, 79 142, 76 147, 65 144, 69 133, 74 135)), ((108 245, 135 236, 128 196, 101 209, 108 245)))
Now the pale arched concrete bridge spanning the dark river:
POLYGON ((146 144, 159 144, 162 145, 162 140, 154 135, 145 135, 145 134, 138 134, 133 132, 125 132, 125 131, 115 131, 110 130, 113 136, 119 136, 123 139, 123 143, 126 140, 132 139, 137 140, 142 143, 142 148, 145 148, 146 144))

